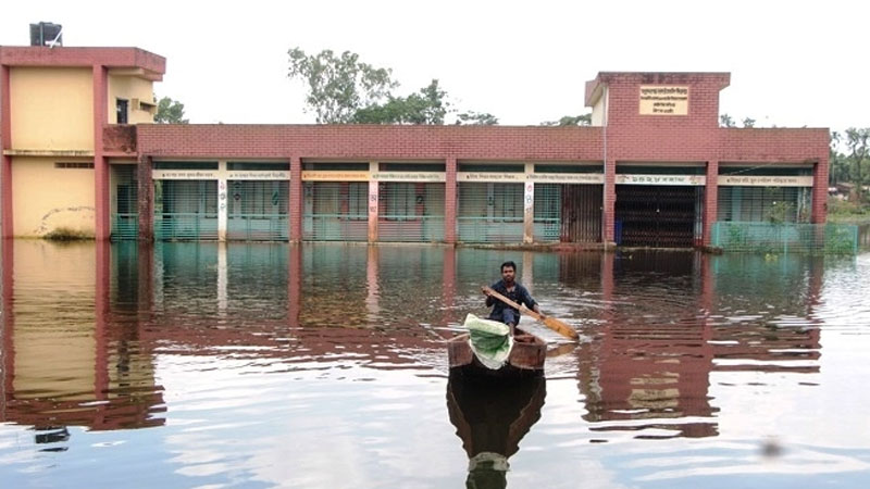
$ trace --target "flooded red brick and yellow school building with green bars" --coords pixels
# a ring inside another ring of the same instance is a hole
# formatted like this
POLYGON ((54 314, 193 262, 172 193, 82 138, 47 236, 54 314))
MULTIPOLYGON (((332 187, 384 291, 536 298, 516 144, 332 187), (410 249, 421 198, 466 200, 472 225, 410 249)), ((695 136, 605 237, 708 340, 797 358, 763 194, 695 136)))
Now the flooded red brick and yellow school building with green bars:
POLYGON ((163 125, 165 60, 0 47, 3 237, 697 247, 824 223, 826 128, 719 127, 728 73, 599 73, 592 125, 163 125))

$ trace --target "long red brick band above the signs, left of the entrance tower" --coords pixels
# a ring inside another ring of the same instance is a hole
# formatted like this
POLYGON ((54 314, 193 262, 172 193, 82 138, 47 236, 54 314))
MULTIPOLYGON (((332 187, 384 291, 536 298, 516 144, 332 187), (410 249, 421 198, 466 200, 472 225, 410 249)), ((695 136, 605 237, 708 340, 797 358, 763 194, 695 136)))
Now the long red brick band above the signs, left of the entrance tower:
POLYGON ((161 125, 137 126, 158 158, 600 160, 600 127, 161 125))

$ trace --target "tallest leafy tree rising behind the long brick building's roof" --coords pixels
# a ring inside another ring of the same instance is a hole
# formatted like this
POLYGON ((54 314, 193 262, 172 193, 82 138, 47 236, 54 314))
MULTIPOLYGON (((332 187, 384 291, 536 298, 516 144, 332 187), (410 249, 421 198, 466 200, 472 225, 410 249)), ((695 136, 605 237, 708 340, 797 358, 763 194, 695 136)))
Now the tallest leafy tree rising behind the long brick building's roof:
POLYGON ((391 70, 376 68, 350 51, 336 57, 326 49, 318 54, 306 54, 300 48, 290 49, 290 78, 307 84, 306 103, 316 114, 320 124, 344 124, 353 121, 362 108, 388 99, 397 84, 390 78, 391 70))

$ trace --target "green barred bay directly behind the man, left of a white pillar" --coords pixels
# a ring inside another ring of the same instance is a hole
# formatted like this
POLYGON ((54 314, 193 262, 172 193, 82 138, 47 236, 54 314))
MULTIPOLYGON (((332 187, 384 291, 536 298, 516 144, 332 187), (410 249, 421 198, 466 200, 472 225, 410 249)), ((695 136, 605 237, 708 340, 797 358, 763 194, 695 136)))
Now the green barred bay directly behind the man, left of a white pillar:
POLYGON ((521 242, 522 184, 459 184, 457 226, 460 241, 521 242))

